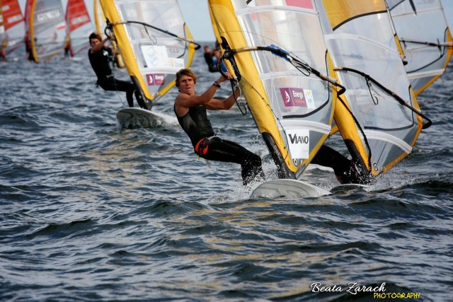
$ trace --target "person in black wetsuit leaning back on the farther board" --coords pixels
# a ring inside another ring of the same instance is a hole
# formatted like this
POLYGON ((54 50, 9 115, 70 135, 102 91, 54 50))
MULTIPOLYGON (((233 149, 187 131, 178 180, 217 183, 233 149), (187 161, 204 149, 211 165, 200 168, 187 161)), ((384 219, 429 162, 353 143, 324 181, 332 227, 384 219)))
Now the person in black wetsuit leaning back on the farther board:
POLYGON ((97 84, 105 91, 125 91, 129 107, 134 107, 132 95, 135 93, 135 99, 140 108, 148 109, 142 96, 135 89, 132 82, 115 79, 112 69, 110 69, 108 50, 104 47, 105 42, 107 42, 109 38, 106 37, 102 40, 100 35, 92 33, 89 39, 91 48, 88 50, 88 58, 90 59, 91 67, 93 67, 93 70, 98 77, 97 84))

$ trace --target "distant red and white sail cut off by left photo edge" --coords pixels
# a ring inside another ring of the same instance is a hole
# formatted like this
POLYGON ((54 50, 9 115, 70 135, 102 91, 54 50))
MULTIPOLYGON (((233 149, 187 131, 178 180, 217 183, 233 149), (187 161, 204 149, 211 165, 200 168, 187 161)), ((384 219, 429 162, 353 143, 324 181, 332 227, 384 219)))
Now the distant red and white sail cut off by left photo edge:
POLYGON ((0 18, 3 22, 3 31, 0 33, 1 49, 6 56, 23 45, 25 37, 25 19, 18 0, 0 1, 0 18))

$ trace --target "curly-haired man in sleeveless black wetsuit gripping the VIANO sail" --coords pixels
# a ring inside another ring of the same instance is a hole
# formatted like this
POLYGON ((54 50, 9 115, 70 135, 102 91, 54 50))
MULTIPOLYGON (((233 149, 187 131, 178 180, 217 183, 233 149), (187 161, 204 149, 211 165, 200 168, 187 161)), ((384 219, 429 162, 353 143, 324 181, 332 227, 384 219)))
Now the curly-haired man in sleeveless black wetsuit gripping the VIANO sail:
POLYGON ((234 95, 231 94, 223 101, 214 98, 220 83, 227 80, 226 77, 220 76, 205 93, 197 95, 197 76, 190 69, 181 69, 176 73, 176 87, 180 93, 176 96, 174 110, 180 126, 193 144, 195 153, 210 161, 241 164, 242 183, 247 185, 257 177, 264 178, 260 156, 233 141, 216 137, 206 113, 206 109, 228 110, 234 105, 235 96, 237 98, 241 93, 239 88, 234 90, 234 95))

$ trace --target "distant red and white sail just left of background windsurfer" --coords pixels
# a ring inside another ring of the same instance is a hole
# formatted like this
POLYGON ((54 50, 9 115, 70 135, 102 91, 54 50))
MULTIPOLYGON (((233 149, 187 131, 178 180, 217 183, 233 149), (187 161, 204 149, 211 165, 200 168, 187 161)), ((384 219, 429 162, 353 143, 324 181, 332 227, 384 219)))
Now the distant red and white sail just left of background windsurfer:
POLYGON ((69 0, 64 17, 68 26, 69 54, 74 57, 89 47, 87 40, 93 33, 93 23, 84 0, 69 0))

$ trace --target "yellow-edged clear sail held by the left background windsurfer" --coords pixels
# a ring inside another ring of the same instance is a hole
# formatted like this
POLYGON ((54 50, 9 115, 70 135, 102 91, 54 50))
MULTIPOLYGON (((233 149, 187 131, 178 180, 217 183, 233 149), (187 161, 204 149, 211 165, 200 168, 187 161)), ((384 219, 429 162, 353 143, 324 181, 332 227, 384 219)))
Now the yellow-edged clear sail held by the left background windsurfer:
POLYGON ((132 82, 151 110, 188 68, 195 47, 176 0, 101 0, 132 82))

